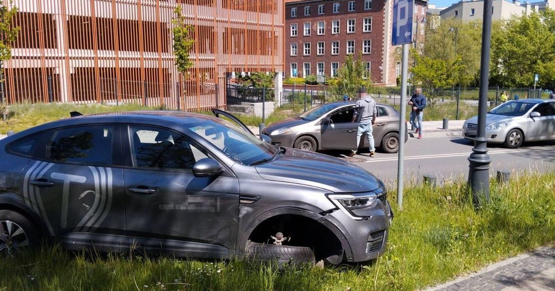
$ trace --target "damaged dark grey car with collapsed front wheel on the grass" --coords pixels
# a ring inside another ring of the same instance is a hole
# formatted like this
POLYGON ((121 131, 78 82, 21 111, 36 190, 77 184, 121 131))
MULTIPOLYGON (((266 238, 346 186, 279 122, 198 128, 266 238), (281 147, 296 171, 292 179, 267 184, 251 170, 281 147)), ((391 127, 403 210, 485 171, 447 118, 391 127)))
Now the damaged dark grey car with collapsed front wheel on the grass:
POLYGON ((386 249, 386 187, 358 166, 207 115, 72 115, 0 140, 0 252, 46 238, 68 249, 339 264, 386 249))

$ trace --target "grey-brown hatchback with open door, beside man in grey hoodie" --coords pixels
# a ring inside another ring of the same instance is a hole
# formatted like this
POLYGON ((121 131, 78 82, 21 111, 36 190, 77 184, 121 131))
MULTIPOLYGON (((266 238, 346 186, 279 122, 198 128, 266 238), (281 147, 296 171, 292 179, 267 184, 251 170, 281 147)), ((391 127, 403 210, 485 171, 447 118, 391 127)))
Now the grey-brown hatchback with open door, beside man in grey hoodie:
MULTIPOLYGON (((316 106, 294 118, 274 122, 266 126, 263 135, 270 137, 272 144, 295 149, 353 150, 356 148, 356 132, 361 114, 352 122, 356 104, 354 101, 337 101, 316 106)), ((389 105, 377 104, 374 126, 375 147, 384 152, 399 149, 399 113, 389 105)), ((406 126, 406 125, 405 125, 406 126)), ((405 130, 405 142, 408 133, 405 130)), ((368 139, 361 137, 359 148, 368 148, 368 139), (364 143, 363 143, 364 142, 364 143)))

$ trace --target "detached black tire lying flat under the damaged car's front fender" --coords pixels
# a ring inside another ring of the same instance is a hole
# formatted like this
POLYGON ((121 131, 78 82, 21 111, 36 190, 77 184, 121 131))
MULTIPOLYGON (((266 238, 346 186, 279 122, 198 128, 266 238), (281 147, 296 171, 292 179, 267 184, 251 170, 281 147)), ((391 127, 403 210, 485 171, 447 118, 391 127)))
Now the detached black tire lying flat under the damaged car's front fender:
POLYGON ((279 246, 277 244, 249 242, 245 249, 248 259, 261 261, 309 262, 314 264, 314 252, 309 247, 279 246))

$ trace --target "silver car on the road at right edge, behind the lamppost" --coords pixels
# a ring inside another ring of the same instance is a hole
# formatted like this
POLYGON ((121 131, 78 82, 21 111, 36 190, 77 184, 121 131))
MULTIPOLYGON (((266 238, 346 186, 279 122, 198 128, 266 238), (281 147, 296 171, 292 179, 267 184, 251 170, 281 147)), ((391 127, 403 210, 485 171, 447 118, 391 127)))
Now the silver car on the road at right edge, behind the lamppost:
MULTIPOLYGON (((478 116, 465 121, 462 134, 474 140, 478 116)), ((486 114, 487 142, 516 149, 524 141, 555 140, 555 100, 519 99, 503 103, 486 114)))

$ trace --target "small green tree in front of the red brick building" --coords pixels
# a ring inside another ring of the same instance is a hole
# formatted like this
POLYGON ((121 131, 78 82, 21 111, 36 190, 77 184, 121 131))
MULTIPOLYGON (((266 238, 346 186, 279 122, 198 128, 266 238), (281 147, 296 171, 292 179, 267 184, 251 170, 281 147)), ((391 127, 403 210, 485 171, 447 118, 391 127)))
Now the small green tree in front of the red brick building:
POLYGON ((342 99, 344 95, 354 99, 362 86, 371 90, 372 80, 370 72, 366 70, 366 64, 362 62, 362 52, 359 52, 356 60, 352 55, 347 55, 345 62, 337 69, 336 78, 330 79, 328 84, 332 98, 335 99, 342 99))

